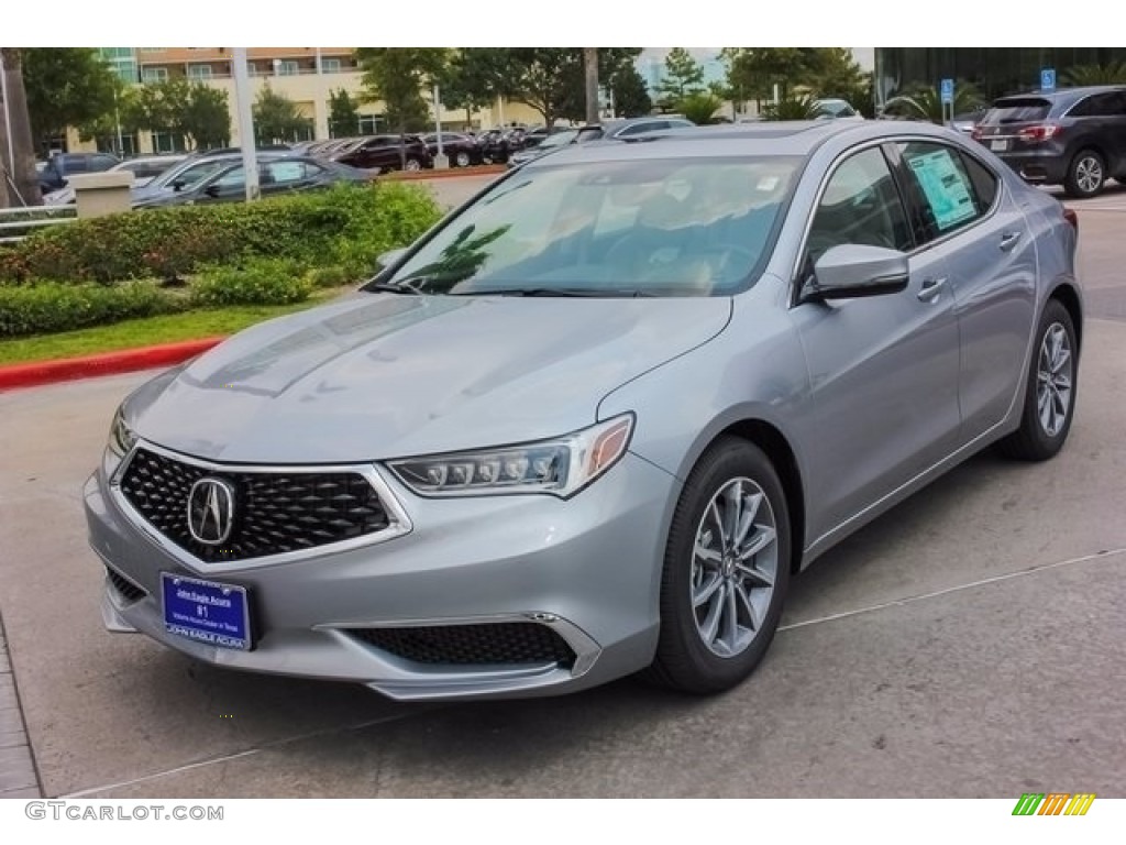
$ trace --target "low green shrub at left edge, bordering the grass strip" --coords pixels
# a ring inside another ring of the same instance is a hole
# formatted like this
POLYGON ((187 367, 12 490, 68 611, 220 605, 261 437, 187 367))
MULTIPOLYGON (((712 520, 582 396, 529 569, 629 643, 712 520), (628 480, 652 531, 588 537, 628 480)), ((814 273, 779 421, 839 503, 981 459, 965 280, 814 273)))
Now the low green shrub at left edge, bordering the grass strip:
POLYGON ((0 337, 68 331, 181 308, 180 300, 143 282, 116 287, 51 282, 0 287, 0 337))

